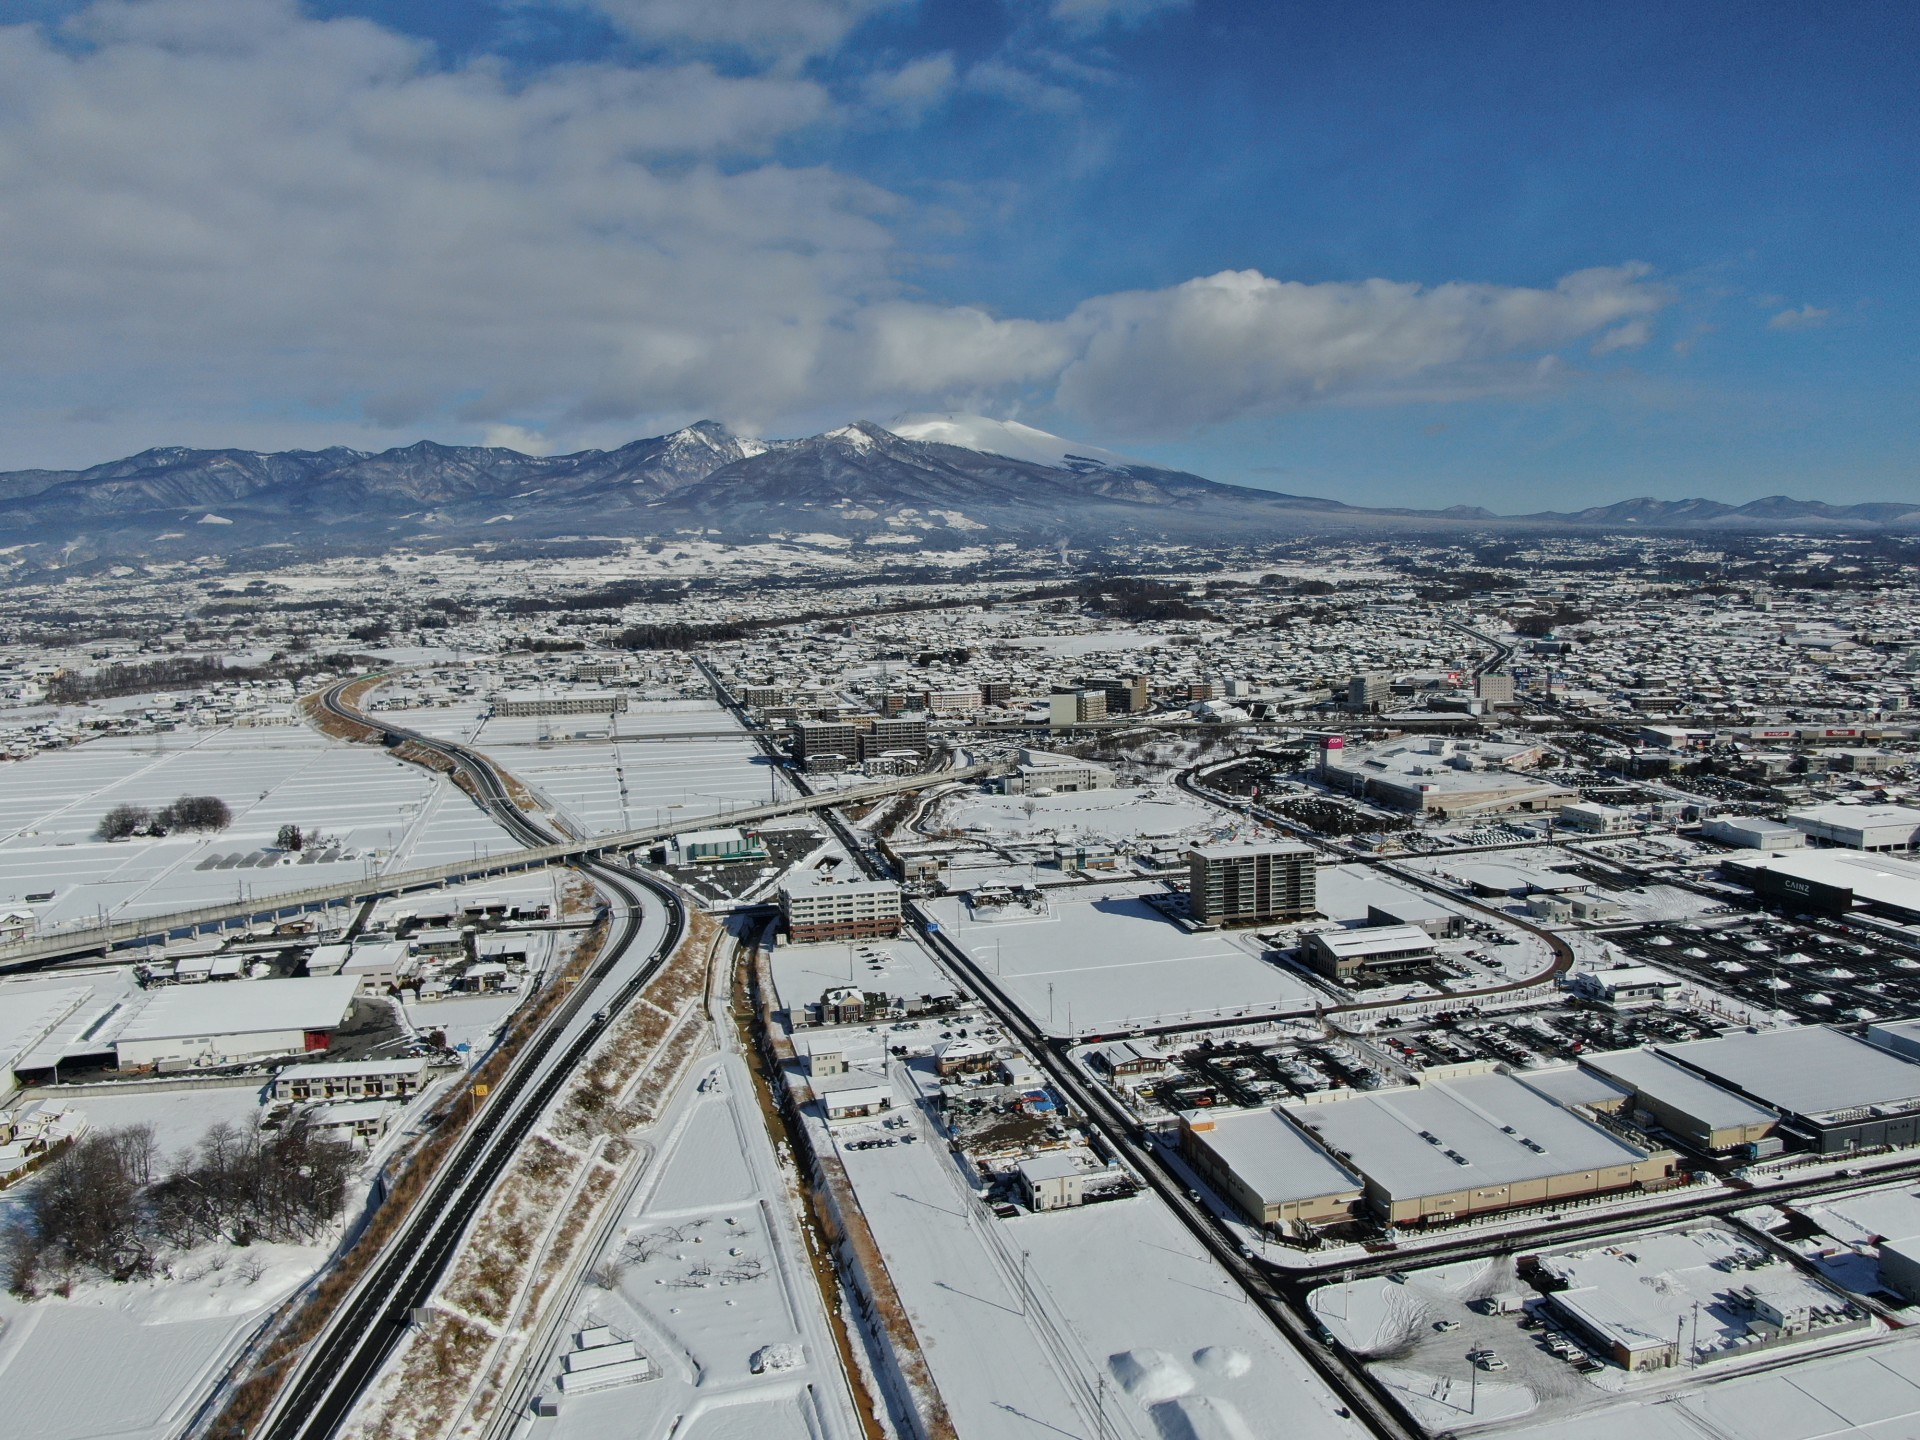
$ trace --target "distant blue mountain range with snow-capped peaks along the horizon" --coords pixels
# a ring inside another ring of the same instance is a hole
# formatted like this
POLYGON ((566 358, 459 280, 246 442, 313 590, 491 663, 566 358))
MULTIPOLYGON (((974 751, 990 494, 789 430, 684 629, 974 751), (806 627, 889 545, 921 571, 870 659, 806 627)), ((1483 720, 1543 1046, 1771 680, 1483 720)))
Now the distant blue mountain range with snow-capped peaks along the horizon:
POLYGON ((968 415, 847 424, 762 442, 712 420, 618 449, 492 445, 367 453, 150 449, 88 470, 0 474, 0 541, 108 553, 378 545, 407 538, 847 536, 964 543, 1204 541, 1319 530, 1920 530, 1920 503, 1747 505, 1628 499, 1498 516, 1367 509, 1140 465, 1031 426, 968 415))

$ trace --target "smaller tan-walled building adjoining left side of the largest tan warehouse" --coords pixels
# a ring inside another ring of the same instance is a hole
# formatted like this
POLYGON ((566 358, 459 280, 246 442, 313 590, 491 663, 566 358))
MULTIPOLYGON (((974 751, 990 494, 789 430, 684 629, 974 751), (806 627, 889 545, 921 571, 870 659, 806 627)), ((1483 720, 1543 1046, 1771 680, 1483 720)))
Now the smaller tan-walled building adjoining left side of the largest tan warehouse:
POLYGON ((1350 1219, 1365 1192, 1281 1110, 1181 1116, 1181 1154, 1244 1219, 1290 1233, 1350 1219))

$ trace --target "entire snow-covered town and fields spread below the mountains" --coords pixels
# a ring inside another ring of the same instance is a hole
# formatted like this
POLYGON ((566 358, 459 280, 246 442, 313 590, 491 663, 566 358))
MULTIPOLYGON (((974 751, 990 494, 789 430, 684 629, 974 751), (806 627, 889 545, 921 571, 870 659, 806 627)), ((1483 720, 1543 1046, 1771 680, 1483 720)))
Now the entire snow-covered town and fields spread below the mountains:
POLYGON ((123 637, 4 651, 0 1350, 127 1377, 19 1380, 36 1434, 1908 1404, 1920 595, 1870 547, 1004 555, 824 614, 829 555, 695 545, 538 609, 108 574, 61 599, 123 637), (739 634, 651 643, 693 593, 739 634))

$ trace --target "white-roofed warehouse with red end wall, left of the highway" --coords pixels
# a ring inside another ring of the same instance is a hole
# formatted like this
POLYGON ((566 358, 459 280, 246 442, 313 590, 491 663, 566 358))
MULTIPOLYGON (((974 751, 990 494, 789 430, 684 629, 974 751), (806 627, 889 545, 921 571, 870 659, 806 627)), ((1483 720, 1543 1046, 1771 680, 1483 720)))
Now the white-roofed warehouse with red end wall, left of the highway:
POLYGON ((115 1062, 121 1069, 182 1069, 324 1050, 357 991, 351 975, 148 991, 113 1043, 115 1062))

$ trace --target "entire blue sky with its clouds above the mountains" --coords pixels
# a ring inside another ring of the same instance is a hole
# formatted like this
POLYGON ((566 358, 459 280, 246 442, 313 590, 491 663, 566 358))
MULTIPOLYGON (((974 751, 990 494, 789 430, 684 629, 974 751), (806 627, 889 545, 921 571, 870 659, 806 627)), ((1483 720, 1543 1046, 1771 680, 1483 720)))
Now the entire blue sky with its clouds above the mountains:
POLYGON ((1357 503, 1920 499, 1910 4, 12 13, 4 468, 960 409, 1357 503))

